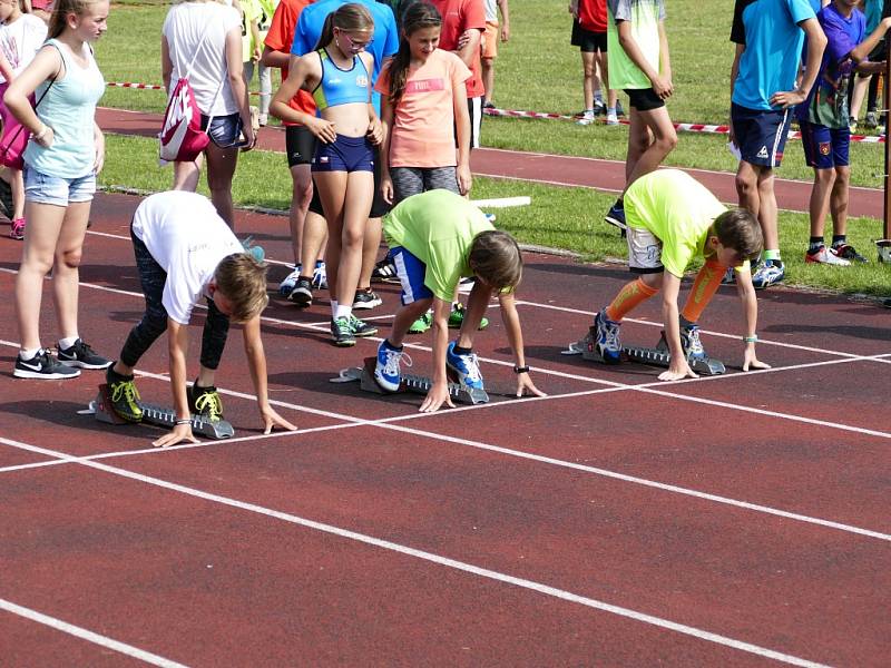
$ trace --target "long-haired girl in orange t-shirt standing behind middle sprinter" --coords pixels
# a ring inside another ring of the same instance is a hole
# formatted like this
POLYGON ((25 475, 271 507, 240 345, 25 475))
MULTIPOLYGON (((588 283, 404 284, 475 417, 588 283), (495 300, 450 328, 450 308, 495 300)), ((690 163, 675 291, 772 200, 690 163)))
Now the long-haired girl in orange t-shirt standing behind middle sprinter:
POLYGON ((385 138, 381 190, 388 203, 444 188, 470 190, 470 69, 438 49, 442 17, 427 2, 402 16, 399 52, 384 66, 375 90, 381 97, 385 138), (456 156, 456 136, 458 151, 456 156))

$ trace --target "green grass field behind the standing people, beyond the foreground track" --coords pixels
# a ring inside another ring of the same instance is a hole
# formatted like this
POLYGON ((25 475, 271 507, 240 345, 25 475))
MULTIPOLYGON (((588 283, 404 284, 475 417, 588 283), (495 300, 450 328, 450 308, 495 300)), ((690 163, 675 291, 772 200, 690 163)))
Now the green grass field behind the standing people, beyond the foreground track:
MULTIPOLYGON (((499 107, 572 114, 581 108, 581 67, 578 50, 569 46, 571 18, 566 0, 513 0, 511 40, 499 47, 495 101, 499 107)), ((108 81, 160 81, 160 28, 167 4, 145 0, 116 3, 108 33, 97 45, 97 58, 108 81)), ((675 96, 668 105, 673 119, 709 124, 726 122, 730 108, 730 67, 733 47, 728 40, 731 2, 672 0, 667 31, 672 51, 675 96)), ((108 89, 102 105, 160 112, 160 91, 108 89)), ((580 127, 560 120, 487 118, 486 146, 624 159, 627 128, 580 127)), ((667 165, 735 170, 726 150, 726 138, 682 134, 667 165)), ((169 187, 169 170, 157 167, 155 143, 137 138, 109 138, 106 186, 147 190, 169 187)), ((854 185, 878 187, 883 171, 879 145, 853 145, 854 185)), ((790 140, 783 178, 810 180, 801 143, 790 140)), ((283 159, 254 151, 243 156, 234 185, 242 205, 284 209, 290 198, 290 177, 283 159)), ((611 197, 581 188, 557 188, 526 183, 477 179, 473 197, 531 195, 533 205, 499 212, 499 225, 530 244, 566 248, 586 258, 624 257, 625 247, 615 230, 591 212, 605 210, 611 197)), ((780 203, 782 207, 782 203, 780 203)), ((870 218, 852 219, 852 242, 872 255, 872 240, 881 236, 881 224, 870 218)), ((781 245, 789 264, 789 283, 852 293, 888 292, 888 267, 872 263, 835 269, 803 263, 807 238, 806 216, 781 215, 781 245)))

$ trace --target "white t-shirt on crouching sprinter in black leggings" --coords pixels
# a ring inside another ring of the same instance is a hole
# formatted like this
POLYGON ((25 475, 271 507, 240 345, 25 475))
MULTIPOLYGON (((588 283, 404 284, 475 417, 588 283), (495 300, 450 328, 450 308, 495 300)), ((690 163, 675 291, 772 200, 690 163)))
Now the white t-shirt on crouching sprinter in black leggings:
POLYGON ((187 325, 192 310, 209 297, 207 284, 219 262, 244 247, 204 195, 184 190, 146 197, 133 216, 133 232, 167 272, 161 303, 187 325))

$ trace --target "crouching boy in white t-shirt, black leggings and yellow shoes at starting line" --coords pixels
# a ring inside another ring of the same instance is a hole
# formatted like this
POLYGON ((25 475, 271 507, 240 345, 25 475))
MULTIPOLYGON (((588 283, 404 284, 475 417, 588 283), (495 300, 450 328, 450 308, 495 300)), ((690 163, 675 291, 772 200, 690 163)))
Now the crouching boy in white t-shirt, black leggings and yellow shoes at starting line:
POLYGON ((139 281, 146 297, 143 320, 130 331, 120 358, 107 372, 115 412, 139 422, 143 411, 134 367, 149 346, 167 332, 170 386, 176 410, 173 432, 154 445, 197 442, 189 415, 223 418, 214 375, 226 345, 229 321, 244 325, 244 346, 265 433, 274 425, 296 428, 270 405, 266 357, 260 337, 260 315, 268 303, 266 265, 245 253, 242 244, 204 196, 183 190, 147 197, 133 217, 130 236, 139 281), (200 372, 186 387, 186 326, 198 301, 207 301, 202 338, 200 372))

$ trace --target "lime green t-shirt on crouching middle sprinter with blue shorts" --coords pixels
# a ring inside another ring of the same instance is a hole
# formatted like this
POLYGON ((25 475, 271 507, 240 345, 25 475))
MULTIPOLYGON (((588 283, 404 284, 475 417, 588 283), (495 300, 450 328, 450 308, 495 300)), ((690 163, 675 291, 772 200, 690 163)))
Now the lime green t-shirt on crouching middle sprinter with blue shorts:
POLYGON ((450 190, 428 190, 400 202, 383 222, 391 248, 402 246, 424 265, 424 285, 444 302, 454 297, 468 265, 473 237, 495 229, 468 199, 450 190))

